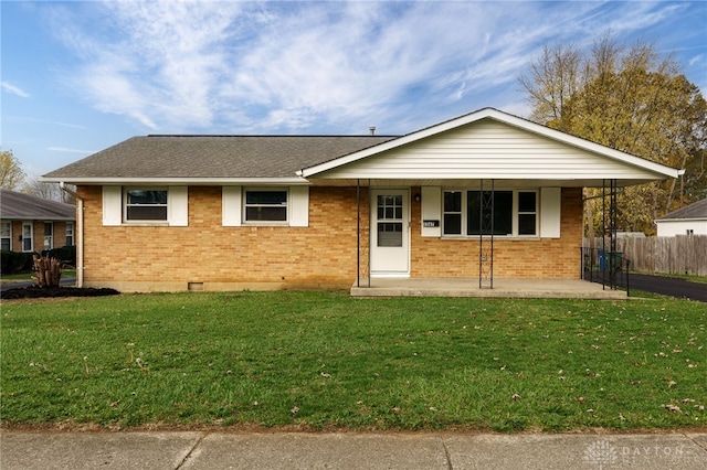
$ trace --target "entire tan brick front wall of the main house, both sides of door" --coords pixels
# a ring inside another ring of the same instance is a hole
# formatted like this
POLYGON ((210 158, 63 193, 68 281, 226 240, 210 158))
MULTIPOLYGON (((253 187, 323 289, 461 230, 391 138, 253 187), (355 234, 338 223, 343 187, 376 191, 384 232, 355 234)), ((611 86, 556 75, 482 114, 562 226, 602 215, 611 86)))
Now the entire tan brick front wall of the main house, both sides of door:
MULTIPOLYGON (((309 189, 308 227, 224 227, 220 186, 189 188, 189 226, 103 226, 102 188, 80 186, 84 282, 123 291, 349 288, 357 268, 356 188, 309 189)), ((411 194, 419 193, 412 189, 411 194)), ((411 201, 411 276, 477 277, 477 241, 421 237, 411 201)), ((368 273, 361 189, 360 275, 368 273)), ((581 190, 562 190, 560 239, 495 241, 494 275, 578 278, 581 190)), ((43 233, 43 232, 42 232, 43 233)))

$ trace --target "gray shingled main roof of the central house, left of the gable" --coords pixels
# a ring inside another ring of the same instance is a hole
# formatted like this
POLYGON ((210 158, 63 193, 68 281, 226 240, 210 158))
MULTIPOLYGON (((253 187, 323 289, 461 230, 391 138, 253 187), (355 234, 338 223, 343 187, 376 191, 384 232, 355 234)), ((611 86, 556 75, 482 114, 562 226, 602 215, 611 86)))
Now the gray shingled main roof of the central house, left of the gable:
POLYGON ((75 178, 296 178, 391 136, 141 136, 46 173, 75 178))

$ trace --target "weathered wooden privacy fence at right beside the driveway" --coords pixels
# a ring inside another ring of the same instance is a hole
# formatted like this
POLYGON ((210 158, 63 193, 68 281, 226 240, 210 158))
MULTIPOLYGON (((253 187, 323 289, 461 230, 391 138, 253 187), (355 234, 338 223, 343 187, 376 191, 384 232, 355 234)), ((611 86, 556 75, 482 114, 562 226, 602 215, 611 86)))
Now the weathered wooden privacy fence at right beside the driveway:
MULTIPOLYGON (((584 238, 585 247, 589 242, 584 238)), ((609 239, 605 243, 609 250, 609 239)), ((602 238, 594 238, 592 247, 602 249, 602 238)), ((707 276, 707 235, 619 238, 616 252, 631 260, 631 270, 707 276)))

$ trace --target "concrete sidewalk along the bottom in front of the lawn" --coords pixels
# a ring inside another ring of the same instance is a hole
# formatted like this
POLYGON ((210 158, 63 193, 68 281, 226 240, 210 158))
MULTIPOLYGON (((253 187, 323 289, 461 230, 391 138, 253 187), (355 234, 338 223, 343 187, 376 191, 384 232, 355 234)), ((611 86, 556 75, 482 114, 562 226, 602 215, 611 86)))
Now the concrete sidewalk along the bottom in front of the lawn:
POLYGON ((707 434, 0 432, 2 470, 707 469, 707 434))

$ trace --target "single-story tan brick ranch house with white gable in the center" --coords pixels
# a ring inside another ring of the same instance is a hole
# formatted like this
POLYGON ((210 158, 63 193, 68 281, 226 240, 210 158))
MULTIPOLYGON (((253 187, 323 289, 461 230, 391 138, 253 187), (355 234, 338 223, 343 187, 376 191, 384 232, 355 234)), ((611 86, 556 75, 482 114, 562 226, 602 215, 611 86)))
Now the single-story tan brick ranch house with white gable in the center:
POLYGON ((582 188, 678 173, 485 108, 402 137, 134 137, 42 180, 77 186, 80 285, 151 291, 482 278, 492 260, 578 279, 582 188))

